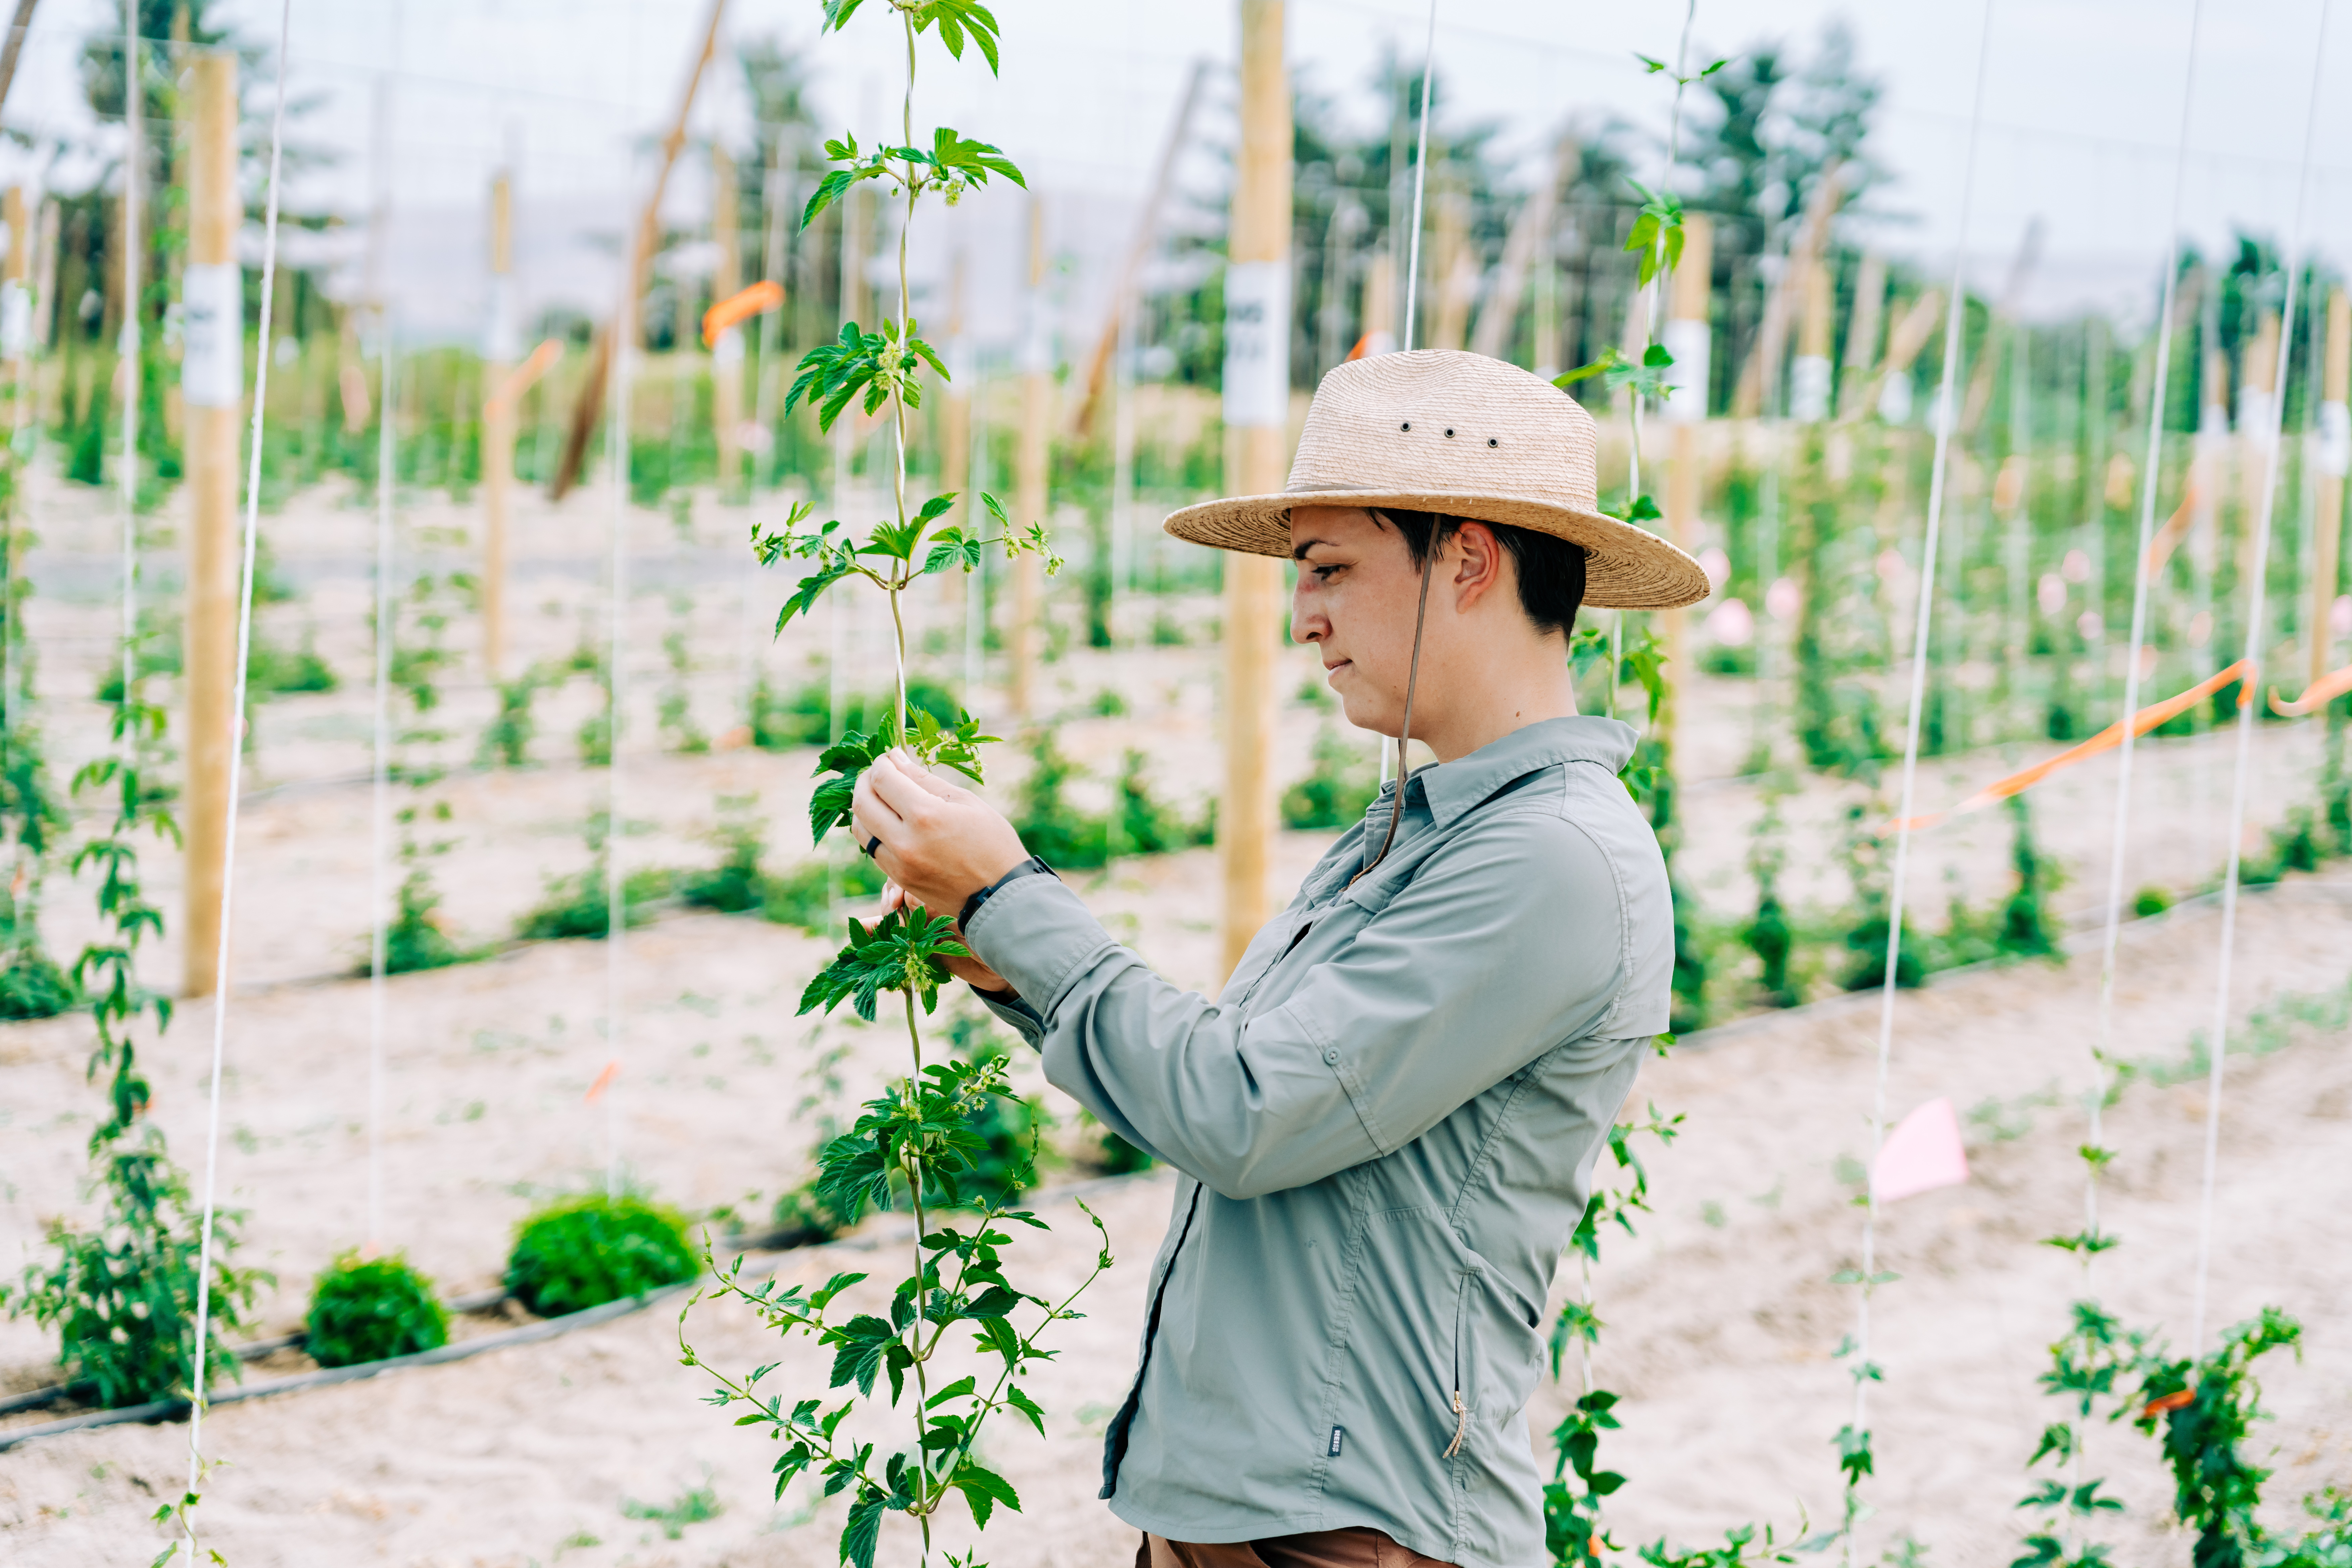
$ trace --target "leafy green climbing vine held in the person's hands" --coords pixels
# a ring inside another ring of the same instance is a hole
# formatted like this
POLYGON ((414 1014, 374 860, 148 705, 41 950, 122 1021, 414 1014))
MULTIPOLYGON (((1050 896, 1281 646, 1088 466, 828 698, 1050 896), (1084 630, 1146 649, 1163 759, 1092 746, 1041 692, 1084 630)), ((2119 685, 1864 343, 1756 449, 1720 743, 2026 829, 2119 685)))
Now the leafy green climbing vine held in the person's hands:
MULTIPOLYGON (((861 0, 828 0, 823 31, 840 31, 858 12, 861 0)), ((835 343, 818 346, 800 362, 800 374, 786 395, 786 411, 807 402, 821 430, 854 407, 866 418, 887 418, 894 435, 891 515, 858 531, 840 520, 814 524, 814 510, 800 503, 781 529, 753 529, 753 552, 762 567, 797 562, 807 569, 786 597, 776 630, 795 616, 807 616, 840 583, 863 581, 877 588, 891 611, 894 693, 873 733, 847 731, 818 757, 816 792, 809 802, 811 837, 849 820, 849 802, 858 776, 889 750, 906 750, 924 764, 948 766, 971 780, 981 778, 981 748, 993 741, 978 722, 957 712, 953 722, 908 703, 906 614, 903 595, 924 576, 976 569, 988 552, 1004 557, 1040 555, 1047 571, 1061 567, 1047 545, 1044 529, 1016 529, 995 496, 981 494, 971 522, 950 522, 957 496, 931 496, 915 503, 908 496, 908 416, 922 404, 922 378, 946 378, 946 364, 922 339, 908 308, 908 230, 917 202, 936 195, 957 202, 964 190, 993 179, 1023 183, 1021 172, 985 141, 938 127, 929 146, 915 139, 915 73, 924 38, 962 59, 971 45, 997 68, 997 21, 974 0, 889 0, 891 19, 906 38, 906 94, 901 99, 901 141, 896 146, 858 146, 856 136, 826 143, 830 172, 802 212, 802 226, 863 181, 882 181, 903 197, 908 223, 898 230, 898 313, 877 329, 847 322, 835 343)), ((1108 1232, 1091 1215, 1103 1246, 1094 1269, 1070 1291, 1044 1295, 1021 1288, 1007 1274, 1007 1248, 1014 1227, 1044 1229, 1035 1213, 1014 1208, 1035 1178, 1028 1154, 990 1161, 1004 1175, 1002 1185, 983 1178, 988 1140, 981 1124, 990 1103, 1011 1098, 1002 1060, 924 1060, 922 1016, 938 1004, 948 983, 946 959, 964 957, 953 919, 922 907, 891 910, 873 926, 849 922, 849 945, 809 980, 800 1011, 830 1013, 840 1004, 873 1023, 894 994, 906 1020, 910 1063, 906 1077, 868 1100, 856 1124, 828 1140, 818 1152, 816 1199, 856 1220, 868 1206, 891 1208, 898 1201, 915 1215, 913 1272, 896 1281, 884 1314, 844 1314, 840 1298, 866 1274, 837 1274, 821 1288, 779 1288, 776 1281, 753 1284, 736 1260, 720 1267, 713 1258, 713 1281, 696 1295, 736 1298, 753 1307, 762 1324, 783 1340, 809 1338, 816 1349, 833 1352, 826 1396, 786 1396, 762 1392, 781 1363, 762 1366, 741 1378, 708 1368, 687 1340, 687 1314, 680 1314, 680 1356, 687 1366, 713 1371, 717 1389, 710 1403, 743 1410, 736 1425, 762 1427, 779 1443, 776 1495, 802 1474, 823 1481, 823 1493, 849 1497, 842 1528, 842 1561, 873 1568, 884 1514, 903 1514, 922 1535, 922 1561, 934 1547, 934 1521, 950 1497, 962 1495, 971 1521, 985 1528, 1000 1507, 1018 1509, 1014 1486, 978 1460, 978 1439, 990 1418, 1011 1410, 1044 1434, 1044 1408, 1030 1399, 1021 1378, 1051 1352, 1044 1333, 1077 1316, 1073 1302, 1110 1267, 1108 1232), (974 1213, 969 1227, 943 1222, 943 1213, 974 1213), (1028 1328, 1016 1319, 1028 1319, 1028 1328), (974 1359, 953 1359, 950 1331, 971 1333, 974 1359), (971 1371, 960 1371, 969 1366, 971 1371), (955 1375, 960 1373, 960 1375, 955 1375), (910 1410, 906 1446, 877 1443, 866 1422, 854 1422, 863 1401, 877 1399, 877 1382, 889 1385, 889 1408, 910 1410), (840 1403, 828 1408, 837 1396, 840 1403)), ((691 1312, 694 1302, 687 1305, 691 1312)), ((971 1556, 948 1556, 969 1563, 971 1556)))

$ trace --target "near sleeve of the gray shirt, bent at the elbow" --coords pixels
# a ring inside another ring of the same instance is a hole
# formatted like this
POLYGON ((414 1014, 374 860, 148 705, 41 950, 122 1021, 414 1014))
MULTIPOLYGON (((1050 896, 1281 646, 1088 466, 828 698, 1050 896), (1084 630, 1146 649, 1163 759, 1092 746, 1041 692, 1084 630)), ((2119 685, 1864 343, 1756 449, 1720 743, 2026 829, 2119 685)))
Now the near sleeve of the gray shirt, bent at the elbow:
POLYGON ((988 900, 967 940, 1042 1018, 1051 1084, 1235 1199, 1411 1143, 1609 1023, 1630 969, 1616 867, 1543 811, 1463 827, 1254 1018, 1155 976, 1047 877, 988 900))

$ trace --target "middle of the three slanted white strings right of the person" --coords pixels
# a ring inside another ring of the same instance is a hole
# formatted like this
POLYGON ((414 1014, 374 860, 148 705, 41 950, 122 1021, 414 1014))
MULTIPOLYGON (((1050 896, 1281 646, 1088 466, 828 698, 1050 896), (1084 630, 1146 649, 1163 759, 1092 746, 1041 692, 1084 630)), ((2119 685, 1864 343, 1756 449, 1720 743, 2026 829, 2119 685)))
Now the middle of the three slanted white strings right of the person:
MULTIPOLYGON (((2173 207, 2164 228, 2164 299, 2157 306, 2157 364, 2147 397, 2147 458, 2140 468, 2140 534, 2131 571, 2131 646, 2124 656, 2124 743, 2114 776, 2114 839, 2107 851, 2107 914, 2098 959, 2098 1039, 2091 1048, 2091 1098, 2086 1110, 2086 1133, 2093 1150, 2105 1147, 2107 1105, 2107 1056, 2114 1048, 2114 945, 2124 926, 2124 853, 2131 835, 2131 762, 2138 750, 2140 729, 2131 715, 2140 710, 2140 649, 2147 646, 2147 597, 2150 597, 2150 548, 2157 529, 2157 480, 2164 465, 2164 388, 2173 364, 2173 313, 2180 284, 2180 202, 2187 186, 2190 108, 2197 87, 2197 35, 2204 21, 2204 0, 2190 0, 2190 52, 2180 75, 2180 129, 2173 141, 2173 207)), ((2098 1234, 2098 1161, 2084 1161, 2084 1234, 2098 1234)), ((2098 1251, 2082 1251, 2084 1281, 2098 1251)))

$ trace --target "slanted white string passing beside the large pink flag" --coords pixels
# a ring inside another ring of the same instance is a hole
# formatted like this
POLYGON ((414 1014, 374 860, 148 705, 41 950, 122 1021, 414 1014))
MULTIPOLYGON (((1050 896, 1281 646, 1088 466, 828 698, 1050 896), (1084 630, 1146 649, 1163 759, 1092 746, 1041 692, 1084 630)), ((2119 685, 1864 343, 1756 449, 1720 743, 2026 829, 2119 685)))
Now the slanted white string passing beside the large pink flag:
MULTIPOLYGON (((1896 816, 1896 865, 1886 889, 1886 978, 1879 985, 1877 1079, 1870 1095, 1870 1168, 1863 1178, 1863 1279, 1853 1314, 1853 1434, 1858 1434, 1860 1441, 1867 1441, 1867 1427, 1863 1422, 1867 1418, 1870 1382, 1875 1378, 1875 1368, 1870 1366, 1870 1293, 1875 1288, 1872 1276, 1877 1272, 1877 1164, 1879 1150, 1886 1145, 1886 1072, 1893 1060, 1896 1041, 1896 976, 1900 973, 1903 961, 1903 893, 1905 877, 1910 872, 1910 818, 1919 783, 1919 712, 1926 705, 1929 632, 1936 618, 1936 548, 1943 538, 1943 491, 1952 458, 1952 428, 1959 423, 1959 409, 1952 402, 1952 393, 1959 371, 1962 320, 1966 315, 1966 292, 1962 284, 1969 266, 1969 212, 1976 200, 1976 132, 1985 110, 1985 66, 1990 56, 1992 0, 1985 0, 1976 40, 1976 89, 1969 94, 1969 155, 1959 176, 1959 233, 1952 242, 1952 292, 1943 317, 1943 386, 1936 393, 1936 463, 1929 473, 1926 538, 1919 550, 1919 614, 1912 618, 1912 670, 1910 705, 1903 719, 1903 788, 1896 816)), ((1846 1481, 1846 1493, 1849 1497, 1853 1493, 1851 1476, 1846 1481)), ((1844 1528, 1839 1530, 1846 1568, 1853 1568, 1853 1507, 1849 1502, 1844 1528)))

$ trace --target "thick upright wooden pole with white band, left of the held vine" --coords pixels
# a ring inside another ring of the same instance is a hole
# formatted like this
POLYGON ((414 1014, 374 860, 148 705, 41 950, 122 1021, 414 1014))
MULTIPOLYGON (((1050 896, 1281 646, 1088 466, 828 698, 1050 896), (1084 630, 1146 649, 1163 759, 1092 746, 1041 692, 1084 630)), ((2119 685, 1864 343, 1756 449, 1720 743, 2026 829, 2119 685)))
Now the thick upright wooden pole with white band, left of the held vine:
POLYGON ((238 268, 238 56, 188 63, 188 266, 181 270, 181 397, 188 409, 188 844, 181 994, 209 997, 221 952, 228 783, 238 766, 238 409, 245 400, 245 275, 238 268))

